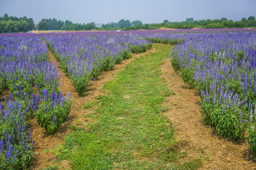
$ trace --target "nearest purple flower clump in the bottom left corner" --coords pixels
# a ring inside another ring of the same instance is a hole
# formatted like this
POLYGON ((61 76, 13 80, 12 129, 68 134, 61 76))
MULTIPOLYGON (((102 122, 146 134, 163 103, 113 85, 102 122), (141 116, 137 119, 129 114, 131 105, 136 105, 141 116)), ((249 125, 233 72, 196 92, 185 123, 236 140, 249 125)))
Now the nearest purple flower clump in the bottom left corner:
POLYGON ((32 140, 30 128, 27 129, 27 110, 22 108, 22 102, 8 101, 4 106, 0 103, 0 112, 0 128, 4 129, 0 139, 0 156, 4 156, 7 162, 15 161, 18 153, 21 157, 27 154, 32 140))

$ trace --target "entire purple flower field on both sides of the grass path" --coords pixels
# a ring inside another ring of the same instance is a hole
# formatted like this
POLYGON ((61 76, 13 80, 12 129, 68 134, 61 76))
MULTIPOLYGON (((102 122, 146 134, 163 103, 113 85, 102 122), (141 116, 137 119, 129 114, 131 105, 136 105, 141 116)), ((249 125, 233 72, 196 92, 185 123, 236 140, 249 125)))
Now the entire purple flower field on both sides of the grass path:
POLYGON ((256 154, 256 30, 0 34, 0 169, 29 168, 29 119, 54 134, 69 115, 72 96, 58 89, 62 77, 47 47, 84 96, 89 81, 153 43, 175 45, 172 66, 201 96, 205 124, 224 138, 246 137, 256 154))

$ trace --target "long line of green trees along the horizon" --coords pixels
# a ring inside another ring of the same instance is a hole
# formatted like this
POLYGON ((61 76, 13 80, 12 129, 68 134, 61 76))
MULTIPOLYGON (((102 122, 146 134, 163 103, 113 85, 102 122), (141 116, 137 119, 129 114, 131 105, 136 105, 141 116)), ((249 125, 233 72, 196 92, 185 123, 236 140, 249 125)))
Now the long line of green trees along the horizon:
POLYGON ((162 23, 143 24, 140 20, 130 22, 128 19, 121 19, 119 22, 111 22, 103 24, 101 27, 95 26, 91 23, 73 23, 72 21, 57 20, 55 18, 44 18, 37 25, 35 25, 33 18, 13 17, 5 14, 0 17, 0 33, 18 33, 27 32, 31 30, 139 30, 139 29, 158 29, 161 27, 175 28, 175 29, 190 29, 194 27, 200 28, 244 28, 256 27, 256 19, 254 16, 243 17, 240 21, 229 20, 222 17, 220 19, 203 19, 194 20, 192 17, 187 18, 186 21, 170 22, 167 19, 162 23))

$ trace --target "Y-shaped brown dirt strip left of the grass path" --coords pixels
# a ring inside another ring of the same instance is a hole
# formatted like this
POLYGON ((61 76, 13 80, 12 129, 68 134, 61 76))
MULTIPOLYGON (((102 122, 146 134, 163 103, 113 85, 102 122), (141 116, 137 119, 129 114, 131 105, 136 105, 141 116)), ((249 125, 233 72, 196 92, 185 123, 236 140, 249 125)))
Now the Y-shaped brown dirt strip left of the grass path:
MULTIPOLYGON (((84 125, 86 125, 86 122, 88 122, 88 120, 85 119, 83 115, 89 114, 90 110, 81 110, 83 105, 86 102, 92 102, 94 100, 94 97, 101 94, 101 88, 103 87, 103 85, 111 79, 115 78, 116 73, 124 69, 126 64, 131 63, 133 59, 138 58, 141 55, 146 55, 147 53, 154 51, 155 49, 152 48, 151 50, 144 53, 133 54, 131 59, 123 60, 121 64, 116 65, 113 70, 103 72, 103 74, 99 76, 97 80, 89 82, 84 97, 81 97, 76 93, 76 90, 71 80, 62 71, 62 69, 60 68, 60 63, 56 61, 52 52, 49 51, 49 60, 55 63, 59 71, 61 71, 62 85, 59 86, 59 89, 64 94, 66 94, 67 92, 71 92, 72 107, 67 120, 61 125, 60 131, 56 132, 54 135, 47 135, 46 131, 38 126, 35 119, 32 119, 30 121, 30 127, 33 133, 32 137, 35 141, 35 156, 33 158, 30 169, 39 170, 40 168, 45 168, 46 166, 51 165, 57 159, 57 157, 53 153, 43 153, 43 151, 47 149, 54 149, 55 147, 57 147, 58 144, 62 144, 64 136, 67 136, 72 131, 68 129, 68 126, 70 124, 76 127, 85 127, 84 125)), ((67 162, 66 160, 62 161, 60 165, 61 169, 70 169, 69 162, 67 162)))

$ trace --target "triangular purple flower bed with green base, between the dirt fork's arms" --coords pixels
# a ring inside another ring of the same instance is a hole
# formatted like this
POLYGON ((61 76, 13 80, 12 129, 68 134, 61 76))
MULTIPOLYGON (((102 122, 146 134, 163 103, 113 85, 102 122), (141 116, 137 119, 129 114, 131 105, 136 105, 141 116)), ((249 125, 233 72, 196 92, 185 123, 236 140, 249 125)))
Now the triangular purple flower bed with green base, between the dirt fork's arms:
POLYGON ((45 39, 81 96, 88 82, 97 78, 102 71, 111 70, 123 59, 131 58, 131 52, 144 52, 152 47, 152 42, 136 34, 87 36, 76 33, 46 35, 45 39))

